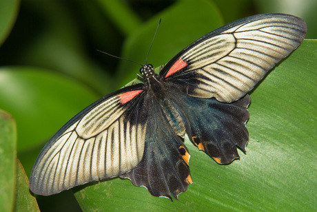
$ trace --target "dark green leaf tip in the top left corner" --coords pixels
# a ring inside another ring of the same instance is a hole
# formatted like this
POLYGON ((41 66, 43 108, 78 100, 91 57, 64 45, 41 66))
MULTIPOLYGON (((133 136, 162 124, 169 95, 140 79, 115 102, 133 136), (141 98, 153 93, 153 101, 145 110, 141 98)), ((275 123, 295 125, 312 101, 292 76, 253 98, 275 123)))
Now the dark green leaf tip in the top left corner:
POLYGON ((0 46, 10 33, 19 10, 19 0, 0 1, 0 46))

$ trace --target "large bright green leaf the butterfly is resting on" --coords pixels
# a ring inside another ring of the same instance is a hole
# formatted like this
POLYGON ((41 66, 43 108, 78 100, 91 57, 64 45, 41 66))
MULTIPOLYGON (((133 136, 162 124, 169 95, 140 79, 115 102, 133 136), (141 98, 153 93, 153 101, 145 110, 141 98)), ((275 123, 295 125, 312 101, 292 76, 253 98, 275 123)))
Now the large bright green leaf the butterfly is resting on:
POLYGON ((75 193, 84 211, 314 211, 317 41, 303 44, 252 92, 247 154, 217 165, 188 140, 194 183, 172 204, 129 180, 75 193))

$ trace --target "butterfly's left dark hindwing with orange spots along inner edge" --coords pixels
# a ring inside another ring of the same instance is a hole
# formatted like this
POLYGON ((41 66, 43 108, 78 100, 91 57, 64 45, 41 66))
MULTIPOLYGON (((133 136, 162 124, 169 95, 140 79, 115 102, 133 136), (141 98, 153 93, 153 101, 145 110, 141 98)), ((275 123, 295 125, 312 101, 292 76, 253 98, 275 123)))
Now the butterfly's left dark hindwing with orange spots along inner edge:
POLYGON ((149 103, 151 118, 147 123, 143 159, 121 178, 129 178, 134 185, 146 187, 154 196, 177 199, 192 183, 190 154, 164 118, 159 103, 155 99, 149 103))

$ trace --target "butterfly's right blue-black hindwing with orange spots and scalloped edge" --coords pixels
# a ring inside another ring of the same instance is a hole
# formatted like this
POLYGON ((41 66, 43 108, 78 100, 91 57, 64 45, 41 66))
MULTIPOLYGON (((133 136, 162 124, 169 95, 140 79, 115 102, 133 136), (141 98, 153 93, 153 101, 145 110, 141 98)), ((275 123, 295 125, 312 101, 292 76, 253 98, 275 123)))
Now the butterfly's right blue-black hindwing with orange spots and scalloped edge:
POLYGON ((170 103, 181 114, 190 140, 219 164, 239 158, 237 147, 245 151, 249 140, 246 123, 249 95, 233 103, 221 103, 216 98, 196 98, 177 92, 166 83, 170 103))

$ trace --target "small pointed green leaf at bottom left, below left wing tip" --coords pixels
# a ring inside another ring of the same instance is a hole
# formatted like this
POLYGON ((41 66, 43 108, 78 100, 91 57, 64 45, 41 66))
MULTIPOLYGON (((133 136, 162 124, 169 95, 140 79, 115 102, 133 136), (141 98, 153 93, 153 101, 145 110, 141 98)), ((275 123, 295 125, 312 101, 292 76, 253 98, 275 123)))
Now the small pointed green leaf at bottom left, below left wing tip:
POLYGON ((14 211, 39 211, 37 200, 30 194, 29 180, 19 159, 17 162, 17 185, 14 211))

